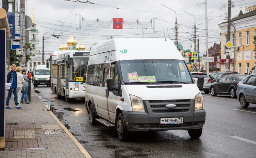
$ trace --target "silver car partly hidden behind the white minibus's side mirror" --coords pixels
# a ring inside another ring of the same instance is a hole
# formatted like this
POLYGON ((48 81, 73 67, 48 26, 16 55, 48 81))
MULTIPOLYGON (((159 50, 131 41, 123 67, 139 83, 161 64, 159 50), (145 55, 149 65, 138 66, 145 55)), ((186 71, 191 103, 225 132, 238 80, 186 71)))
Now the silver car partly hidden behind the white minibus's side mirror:
POLYGON ((211 85, 211 79, 210 77, 206 74, 206 73, 202 73, 202 72, 191 72, 193 79, 195 79, 195 82, 197 84, 197 79, 198 77, 203 77, 204 78, 204 87, 200 90, 203 90, 205 92, 205 94, 209 94, 209 89, 210 89, 210 85, 211 85))

